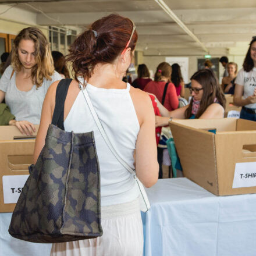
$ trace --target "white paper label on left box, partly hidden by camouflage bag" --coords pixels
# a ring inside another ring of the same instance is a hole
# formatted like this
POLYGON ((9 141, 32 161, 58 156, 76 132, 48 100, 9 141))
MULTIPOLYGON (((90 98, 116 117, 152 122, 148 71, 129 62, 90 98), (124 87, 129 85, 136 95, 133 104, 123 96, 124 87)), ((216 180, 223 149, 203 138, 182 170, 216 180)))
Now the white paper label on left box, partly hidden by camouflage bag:
POLYGON ((3 179, 3 202, 16 204, 29 175, 5 175, 3 179))

